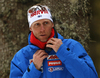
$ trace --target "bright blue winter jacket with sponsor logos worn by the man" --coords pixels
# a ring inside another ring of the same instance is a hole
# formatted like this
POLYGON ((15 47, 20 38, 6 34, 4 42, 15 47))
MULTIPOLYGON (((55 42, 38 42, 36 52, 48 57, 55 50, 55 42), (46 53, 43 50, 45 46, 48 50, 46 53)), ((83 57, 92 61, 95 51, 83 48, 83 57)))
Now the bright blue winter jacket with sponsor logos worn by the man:
POLYGON ((41 71, 29 62, 40 48, 30 43, 19 50, 11 61, 10 78, 98 78, 92 59, 82 45, 72 39, 58 38, 63 44, 57 53, 46 51, 41 71))

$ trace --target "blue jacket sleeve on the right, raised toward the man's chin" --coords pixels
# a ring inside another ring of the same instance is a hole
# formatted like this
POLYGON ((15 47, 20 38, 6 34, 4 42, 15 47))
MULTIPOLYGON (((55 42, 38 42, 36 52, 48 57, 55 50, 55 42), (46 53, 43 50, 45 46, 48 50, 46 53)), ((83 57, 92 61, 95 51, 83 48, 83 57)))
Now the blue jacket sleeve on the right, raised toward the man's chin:
POLYGON ((56 54, 74 78, 98 78, 92 59, 80 43, 62 44, 56 54))

